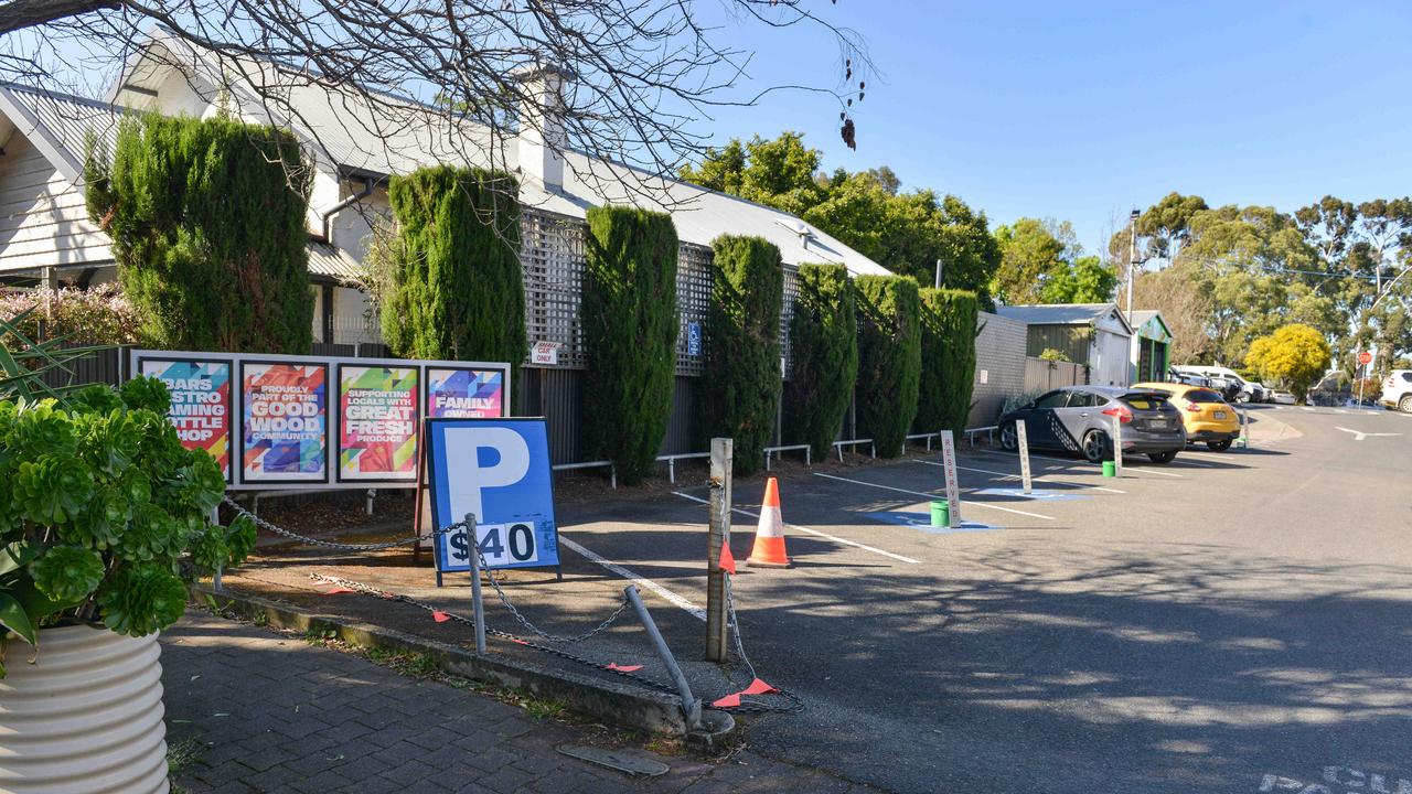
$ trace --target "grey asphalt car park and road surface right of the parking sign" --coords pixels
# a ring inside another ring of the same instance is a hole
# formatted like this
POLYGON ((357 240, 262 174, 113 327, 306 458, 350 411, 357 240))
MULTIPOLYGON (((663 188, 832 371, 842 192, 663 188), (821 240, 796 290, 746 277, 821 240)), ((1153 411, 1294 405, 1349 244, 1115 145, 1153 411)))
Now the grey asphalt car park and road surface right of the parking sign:
MULTIPOLYGON (((782 480, 796 565, 736 595, 761 675, 809 708, 753 722, 751 747, 905 793, 1412 794, 1412 417, 1251 415, 1254 449, 1117 480, 1036 458, 1045 499, 994 490, 1014 456, 967 452, 976 531, 904 526, 935 454, 782 480)), ((563 537, 703 605, 705 489, 682 494, 566 506, 563 537)), ((737 517, 741 559, 753 530, 737 517)), ((699 653, 700 622, 650 602, 699 653)))

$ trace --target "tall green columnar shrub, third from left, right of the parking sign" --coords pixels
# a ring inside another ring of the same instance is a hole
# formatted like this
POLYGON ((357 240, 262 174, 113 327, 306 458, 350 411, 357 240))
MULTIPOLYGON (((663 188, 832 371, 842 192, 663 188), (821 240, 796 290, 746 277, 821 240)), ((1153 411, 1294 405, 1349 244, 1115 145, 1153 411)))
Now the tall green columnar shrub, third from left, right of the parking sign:
POLYGON ((676 376, 676 227, 627 206, 587 213, 583 270, 583 445, 626 483, 652 473, 676 376))

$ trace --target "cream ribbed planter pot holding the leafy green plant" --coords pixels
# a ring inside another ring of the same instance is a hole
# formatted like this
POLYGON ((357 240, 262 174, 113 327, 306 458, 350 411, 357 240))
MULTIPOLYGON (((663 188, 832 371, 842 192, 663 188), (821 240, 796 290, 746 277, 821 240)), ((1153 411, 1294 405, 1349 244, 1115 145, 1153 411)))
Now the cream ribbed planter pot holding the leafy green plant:
POLYGON ((31 653, 11 640, 0 678, 0 794, 165 794, 157 634, 44 629, 31 653))

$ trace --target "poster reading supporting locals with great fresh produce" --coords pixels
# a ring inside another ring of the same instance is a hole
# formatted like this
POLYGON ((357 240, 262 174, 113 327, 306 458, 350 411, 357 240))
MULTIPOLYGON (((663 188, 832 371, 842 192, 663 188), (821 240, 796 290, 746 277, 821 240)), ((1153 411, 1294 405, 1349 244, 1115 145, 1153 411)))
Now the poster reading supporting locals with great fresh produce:
POLYGON ((417 478, 417 367, 339 365, 339 479, 417 478))

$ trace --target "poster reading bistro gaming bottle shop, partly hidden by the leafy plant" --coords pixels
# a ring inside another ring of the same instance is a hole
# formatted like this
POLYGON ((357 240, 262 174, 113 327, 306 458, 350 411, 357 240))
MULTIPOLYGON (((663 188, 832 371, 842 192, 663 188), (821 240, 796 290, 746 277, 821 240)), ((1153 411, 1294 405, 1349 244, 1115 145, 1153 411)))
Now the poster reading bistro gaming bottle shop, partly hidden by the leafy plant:
POLYGON ((209 452, 230 482, 230 362, 143 359, 141 374, 167 384, 182 446, 209 452))

